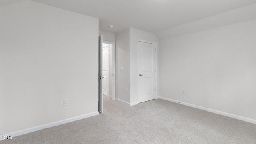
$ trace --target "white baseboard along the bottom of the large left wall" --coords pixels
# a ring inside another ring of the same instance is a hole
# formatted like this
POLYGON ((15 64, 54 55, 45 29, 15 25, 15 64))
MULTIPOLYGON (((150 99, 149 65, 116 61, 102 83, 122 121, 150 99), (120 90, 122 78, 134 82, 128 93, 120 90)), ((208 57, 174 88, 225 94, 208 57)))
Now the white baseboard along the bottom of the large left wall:
MULTIPOLYGON (((99 114, 99 112, 92 112, 92 113, 89 113, 89 114, 84 114, 84 115, 81 115, 81 116, 76 116, 76 117, 73 117, 73 118, 68 118, 68 119, 65 119, 65 120, 57 121, 57 122, 51 122, 51 123, 48 123, 48 124, 43 124, 43 125, 35 126, 35 127, 32 127, 32 128, 27 128, 27 129, 24 129, 24 130, 11 132, 11 133, 8 133, 8 134, 1 134, 1 136, 12 136, 12 137, 20 136, 20 135, 23 135, 23 134, 28 134, 30 132, 35 132, 35 131, 38 131, 38 130, 42 130, 42 129, 45 129, 45 128, 50 128, 50 127, 53 127, 53 126, 66 124, 68 122, 74 122, 76 120, 81 120, 81 119, 88 118, 88 117, 91 117, 91 116, 96 116, 98 114, 99 114)), ((2 140, 2 138, 0 138, 0 141, 1 140, 2 140)))

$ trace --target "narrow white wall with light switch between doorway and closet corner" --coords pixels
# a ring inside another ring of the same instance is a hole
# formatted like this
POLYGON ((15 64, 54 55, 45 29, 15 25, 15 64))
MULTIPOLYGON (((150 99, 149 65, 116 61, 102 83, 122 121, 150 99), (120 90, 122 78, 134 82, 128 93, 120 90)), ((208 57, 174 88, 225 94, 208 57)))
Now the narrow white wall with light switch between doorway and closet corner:
POLYGON ((130 103, 129 28, 116 34, 116 99, 130 103), (121 71, 120 67, 124 70, 121 71), (125 89, 128 89, 128 93, 125 89))

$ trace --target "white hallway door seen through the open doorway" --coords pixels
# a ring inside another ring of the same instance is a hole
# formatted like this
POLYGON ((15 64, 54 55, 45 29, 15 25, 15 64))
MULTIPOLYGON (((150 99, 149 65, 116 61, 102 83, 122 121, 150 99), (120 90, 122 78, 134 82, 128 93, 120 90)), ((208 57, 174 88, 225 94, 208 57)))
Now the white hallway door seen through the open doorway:
POLYGON ((102 94, 109 95, 109 44, 103 44, 102 50, 102 94))

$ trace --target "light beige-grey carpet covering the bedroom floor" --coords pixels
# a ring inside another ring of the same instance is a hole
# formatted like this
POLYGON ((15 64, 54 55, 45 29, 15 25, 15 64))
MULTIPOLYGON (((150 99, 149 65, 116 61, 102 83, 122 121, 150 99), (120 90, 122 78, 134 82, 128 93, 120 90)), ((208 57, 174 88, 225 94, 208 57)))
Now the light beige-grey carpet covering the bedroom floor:
POLYGON ((256 124, 160 99, 126 106, 104 96, 104 114, 0 144, 256 144, 256 124))

